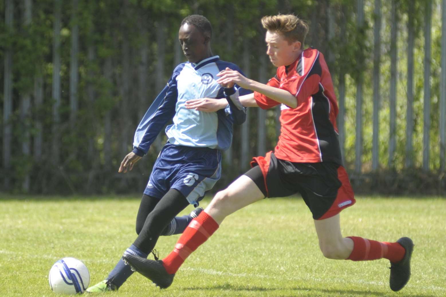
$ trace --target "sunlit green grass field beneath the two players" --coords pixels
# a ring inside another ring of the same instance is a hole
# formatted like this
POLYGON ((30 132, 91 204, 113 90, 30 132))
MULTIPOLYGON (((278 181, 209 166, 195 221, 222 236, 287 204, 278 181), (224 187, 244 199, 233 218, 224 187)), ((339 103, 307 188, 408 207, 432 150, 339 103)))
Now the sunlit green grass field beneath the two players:
MULTIPOLYGON (((91 285, 103 280, 135 239, 139 195, 132 197, 0 198, 0 296, 57 296, 48 272, 66 256, 87 265, 91 285)), ((107 295, 446 296, 446 199, 357 197, 341 224, 344 236, 411 237, 409 284, 398 293, 389 289, 388 260, 324 258, 310 211, 300 198, 288 198, 265 199, 229 216, 168 289, 135 273, 107 295)), ((177 239, 160 238, 161 257, 177 239)))

